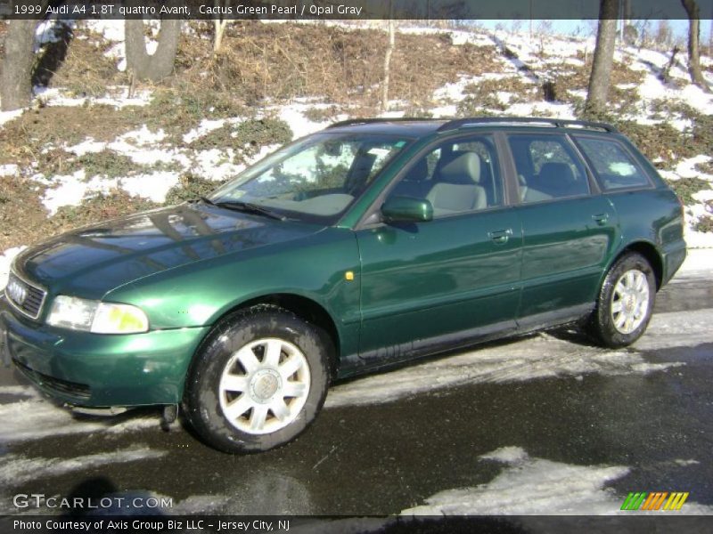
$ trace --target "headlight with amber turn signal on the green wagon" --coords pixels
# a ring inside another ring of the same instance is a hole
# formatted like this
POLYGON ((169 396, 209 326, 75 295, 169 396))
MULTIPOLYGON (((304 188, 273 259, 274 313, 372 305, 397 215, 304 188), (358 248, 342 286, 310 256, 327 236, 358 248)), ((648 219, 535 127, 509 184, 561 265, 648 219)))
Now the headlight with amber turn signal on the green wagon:
POLYGON ((135 306, 65 295, 54 299, 47 324, 94 334, 135 334, 149 329, 146 314, 135 306))

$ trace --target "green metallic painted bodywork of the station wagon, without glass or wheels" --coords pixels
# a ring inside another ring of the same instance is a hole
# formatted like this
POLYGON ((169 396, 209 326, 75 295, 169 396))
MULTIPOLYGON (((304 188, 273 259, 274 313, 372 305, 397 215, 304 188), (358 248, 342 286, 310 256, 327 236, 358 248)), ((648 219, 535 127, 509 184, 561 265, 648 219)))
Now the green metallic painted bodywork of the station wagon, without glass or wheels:
MULTIPOLYGON (((490 125, 438 133, 438 124, 349 126, 415 141, 332 227, 192 204, 73 231, 26 250, 14 268, 48 290, 47 305, 32 321, 0 299, 0 329, 12 356, 92 390, 85 401, 53 391, 62 401, 171 404, 180 401, 188 366, 210 328, 245 303, 294 295, 324 310, 336 329, 339 374, 348 376, 423 348, 433 352, 576 319, 591 309, 606 270, 627 247, 651 247, 663 283, 683 262, 675 195, 619 135, 650 175, 651 189, 531 205, 511 200, 432 221, 360 226, 378 213, 407 164, 435 143, 466 131, 495 131, 499 138, 533 131, 490 125), (48 327, 44 319, 59 294, 138 305, 151 331, 102 336, 48 327)), ((504 190, 516 191, 512 158, 500 157, 504 190)))

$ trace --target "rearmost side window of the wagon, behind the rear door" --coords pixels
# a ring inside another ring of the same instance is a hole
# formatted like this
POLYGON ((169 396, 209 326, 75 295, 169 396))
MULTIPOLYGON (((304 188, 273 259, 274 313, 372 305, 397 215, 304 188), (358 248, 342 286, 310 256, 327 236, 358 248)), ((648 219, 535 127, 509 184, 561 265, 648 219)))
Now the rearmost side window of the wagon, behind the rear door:
POLYGON ((577 144, 592 163, 603 190, 649 185, 649 179, 618 142, 576 137, 577 144))

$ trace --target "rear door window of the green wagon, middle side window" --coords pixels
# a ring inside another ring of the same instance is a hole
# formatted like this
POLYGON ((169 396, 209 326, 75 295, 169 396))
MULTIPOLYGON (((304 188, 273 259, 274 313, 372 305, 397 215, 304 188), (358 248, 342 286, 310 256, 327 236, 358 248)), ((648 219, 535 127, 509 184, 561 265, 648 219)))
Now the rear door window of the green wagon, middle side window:
POLYGON ((561 135, 511 135, 520 201, 589 194, 585 167, 561 135))

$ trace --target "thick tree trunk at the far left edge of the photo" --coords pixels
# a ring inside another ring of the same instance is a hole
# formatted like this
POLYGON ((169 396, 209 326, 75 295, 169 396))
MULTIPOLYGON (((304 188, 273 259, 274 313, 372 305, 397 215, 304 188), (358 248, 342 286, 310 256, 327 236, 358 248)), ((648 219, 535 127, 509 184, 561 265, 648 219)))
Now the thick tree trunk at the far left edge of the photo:
POLYGON ((0 75, 3 111, 24 108, 32 100, 33 46, 37 20, 10 20, 7 25, 3 72, 0 75))

